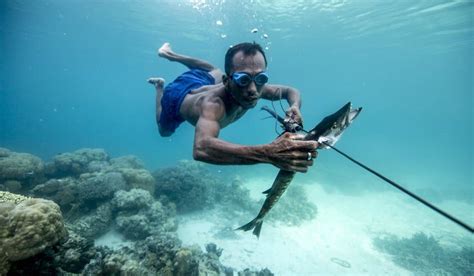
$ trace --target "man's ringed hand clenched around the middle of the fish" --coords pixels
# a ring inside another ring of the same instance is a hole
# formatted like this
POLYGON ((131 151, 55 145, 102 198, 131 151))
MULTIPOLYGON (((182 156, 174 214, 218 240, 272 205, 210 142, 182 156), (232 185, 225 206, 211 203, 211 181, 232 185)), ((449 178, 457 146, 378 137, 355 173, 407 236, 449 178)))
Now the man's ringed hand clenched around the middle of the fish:
POLYGON ((276 167, 296 172, 307 172, 316 158, 318 142, 303 141, 299 134, 284 133, 266 146, 269 163, 276 167))

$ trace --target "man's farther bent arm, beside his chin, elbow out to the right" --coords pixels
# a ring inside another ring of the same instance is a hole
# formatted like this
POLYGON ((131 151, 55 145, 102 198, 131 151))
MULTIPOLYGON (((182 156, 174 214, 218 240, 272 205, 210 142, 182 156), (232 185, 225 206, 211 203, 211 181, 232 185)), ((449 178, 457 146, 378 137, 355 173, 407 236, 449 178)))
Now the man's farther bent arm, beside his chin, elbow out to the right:
POLYGON ((303 125, 303 117, 301 116, 301 97, 300 92, 289 86, 284 85, 265 85, 262 89, 262 98, 270 101, 278 101, 285 99, 290 106, 286 110, 287 118, 290 118, 300 125, 303 125))

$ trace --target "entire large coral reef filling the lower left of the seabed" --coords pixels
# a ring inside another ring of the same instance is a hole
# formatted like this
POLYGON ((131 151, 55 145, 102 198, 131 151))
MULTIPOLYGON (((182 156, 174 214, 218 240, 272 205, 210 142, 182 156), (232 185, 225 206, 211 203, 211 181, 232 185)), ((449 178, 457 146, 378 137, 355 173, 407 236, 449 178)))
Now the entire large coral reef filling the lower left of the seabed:
POLYGON ((257 208, 240 181, 217 179, 194 161, 159 171, 158 181, 138 158, 110 159, 103 149, 63 153, 43 165, 0 148, 0 161, 10 168, 36 166, 24 177, 26 169, 0 168, 8 172, 8 178, 0 175, 0 189, 56 202, 0 192, 0 274, 234 275, 220 262, 217 245, 207 245, 206 252, 181 245, 176 204, 183 212, 217 206, 230 217, 257 208), (120 247, 94 244, 119 234, 126 239, 120 247))

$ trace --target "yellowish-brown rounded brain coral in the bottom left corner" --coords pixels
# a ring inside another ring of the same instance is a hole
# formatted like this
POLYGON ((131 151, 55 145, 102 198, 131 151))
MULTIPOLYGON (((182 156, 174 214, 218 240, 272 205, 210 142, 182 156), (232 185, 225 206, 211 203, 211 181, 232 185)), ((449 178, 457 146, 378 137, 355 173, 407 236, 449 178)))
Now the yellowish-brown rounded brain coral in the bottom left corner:
POLYGON ((0 194, 0 274, 67 237, 59 206, 50 200, 0 194))

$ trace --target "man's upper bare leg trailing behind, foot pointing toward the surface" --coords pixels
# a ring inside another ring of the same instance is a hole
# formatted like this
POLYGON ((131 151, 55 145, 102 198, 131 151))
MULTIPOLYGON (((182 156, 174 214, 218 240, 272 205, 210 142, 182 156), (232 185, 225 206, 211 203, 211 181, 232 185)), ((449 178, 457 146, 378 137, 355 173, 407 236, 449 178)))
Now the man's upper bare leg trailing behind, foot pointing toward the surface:
POLYGON ((173 50, 171 49, 171 45, 168 42, 164 43, 160 47, 160 49, 158 49, 158 55, 162 58, 166 58, 169 61, 179 62, 184 66, 188 67, 189 69, 201 69, 207 71, 211 76, 214 77, 216 84, 222 82, 223 73, 219 68, 215 67, 214 65, 210 64, 205 60, 173 52, 173 50))

